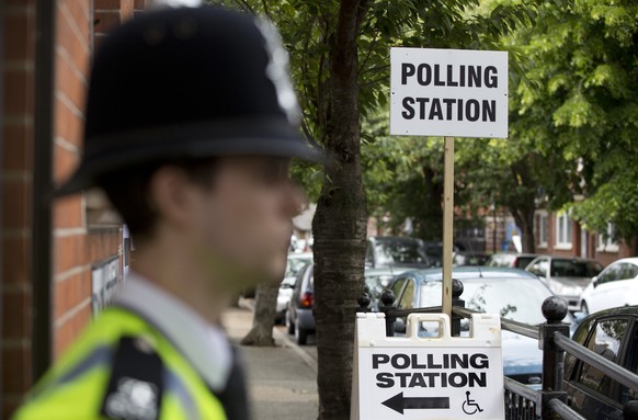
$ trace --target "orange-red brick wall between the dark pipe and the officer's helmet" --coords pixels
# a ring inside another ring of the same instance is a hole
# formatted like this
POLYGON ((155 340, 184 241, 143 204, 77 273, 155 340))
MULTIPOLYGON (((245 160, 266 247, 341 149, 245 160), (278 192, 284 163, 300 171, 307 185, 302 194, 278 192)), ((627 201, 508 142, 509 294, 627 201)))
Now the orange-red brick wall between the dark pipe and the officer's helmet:
MULTIPOLYGON (((56 3, 54 182, 64 181, 80 159, 84 98, 91 56, 90 2, 56 3)), ((53 354, 68 347, 91 319, 91 265, 82 195, 54 203, 53 354)), ((116 250, 115 250, 116 251, 116 250)))

